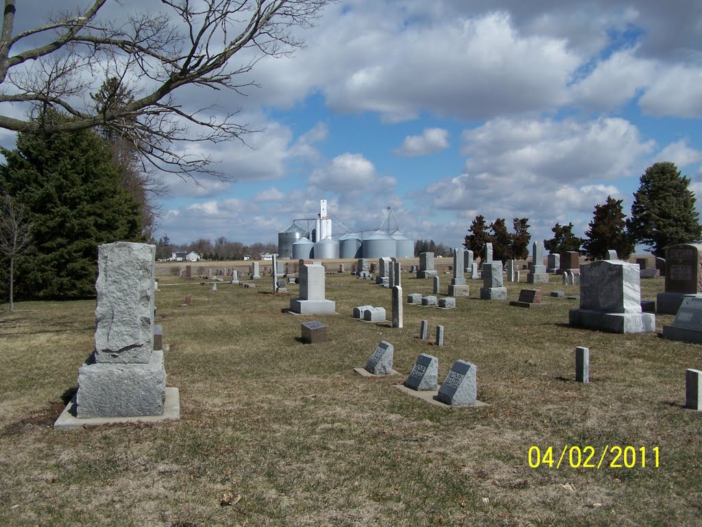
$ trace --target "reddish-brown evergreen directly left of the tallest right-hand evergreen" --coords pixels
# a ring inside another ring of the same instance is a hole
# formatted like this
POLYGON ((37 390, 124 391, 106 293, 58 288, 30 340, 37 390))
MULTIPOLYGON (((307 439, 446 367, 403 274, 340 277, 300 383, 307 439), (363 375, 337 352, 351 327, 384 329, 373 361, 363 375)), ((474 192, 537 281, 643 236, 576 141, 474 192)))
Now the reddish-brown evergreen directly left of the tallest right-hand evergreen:
POLYGON ((615 249, 623 260, 634 252, 634 244, 626 230, 626 215, 621 209, 622 201, 607 196, 607 202, 595 205, 590 230, 585 232, 587 240, 583 242, 583 251, 589 259, 604 259, 607 249, 615 249))

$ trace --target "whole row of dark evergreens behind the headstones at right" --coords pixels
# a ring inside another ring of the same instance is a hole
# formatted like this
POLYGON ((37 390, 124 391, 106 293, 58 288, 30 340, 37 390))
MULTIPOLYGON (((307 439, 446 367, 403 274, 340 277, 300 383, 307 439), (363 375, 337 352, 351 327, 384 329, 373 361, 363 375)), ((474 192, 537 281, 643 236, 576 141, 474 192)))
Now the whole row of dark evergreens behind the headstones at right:
MULTIPOLYGON (((573 223, 556 223, 551 229, 553 238, 544 240, 543 245, 552 254, 578 251, 597 260, 604 259, 608 249, 616 250, 619 258, 628 259, 635 246, 642 244, 662 257, 669 245, 698 242, 702 239, 702 226, 689 183, 690 179, 682 176, 674 163, 655 163, 640 178, 630 218, 623 212, 623 200, 607 196, 604 204, 595 205, 585 238, 573 233, 573 223)), ((484 216, 476 216, 463 245, 481 258, 487 242, 493 244, 495 259, 527 258, 531 238, 528 221, 515 218, 514 232, 508 233, 504 219, 498 218, 487 226, 484 216)))

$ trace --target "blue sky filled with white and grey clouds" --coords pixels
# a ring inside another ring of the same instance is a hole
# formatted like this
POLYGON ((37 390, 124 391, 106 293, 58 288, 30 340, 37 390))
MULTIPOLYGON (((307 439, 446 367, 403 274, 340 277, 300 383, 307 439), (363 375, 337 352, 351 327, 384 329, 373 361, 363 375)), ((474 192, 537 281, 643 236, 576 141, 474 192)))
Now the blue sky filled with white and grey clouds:
MULTIPOLYGON (((18 4, 29 27, 45 5, 18 4)), ((277 242, 320 199, 335 234, 391 207, 402 233, 451 247, 478 214, 583 235, 608 195, 629 214, 658 161, 702 192, 699 0, 342 0, 296 34, 305 47, 260 60, 244 96, 178 94, 260 131, 190 145, 231 182, 164 176, 157 238, 277 242)))

